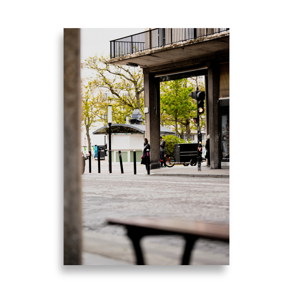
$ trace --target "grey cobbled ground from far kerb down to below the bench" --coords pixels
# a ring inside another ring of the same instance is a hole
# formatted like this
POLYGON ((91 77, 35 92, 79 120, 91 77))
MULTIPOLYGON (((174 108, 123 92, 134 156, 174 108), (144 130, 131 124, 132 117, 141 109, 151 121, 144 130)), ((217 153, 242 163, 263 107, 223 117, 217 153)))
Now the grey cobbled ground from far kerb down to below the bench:
MULTIPOLYGON (((85 233, 95 232, 95 237, 85 236, 84 250, 130 263, 133 257, 127 256, 127 253, 123 255, 122 244, 119 244, 124 241, 122 239, 127 239, 125 229, 122 226, 106 225, 107 218, 147 216, 229 222, 229 178, 84 174, 82 195, 83 229, 85 233), (111 243, 112 252, 109 250, 111 243)), ((152 249, 146 258, 153 265, 179 264, 178 260, 174 263, 175 257, 170 255, 175 253, 178 258, 178 251, 183 249, 183 245, 180 236, 148 236, 143 240, 143 247, 152 249), (164 251, 171 254, 164 255, 164 251)), ((123 249, 132 253, 130 246, 123 249)), ((200 258, 193 260, 192 264, 195 265, 227 265, 229 243, 200 239, 196 244, 195 255, 200 258)))

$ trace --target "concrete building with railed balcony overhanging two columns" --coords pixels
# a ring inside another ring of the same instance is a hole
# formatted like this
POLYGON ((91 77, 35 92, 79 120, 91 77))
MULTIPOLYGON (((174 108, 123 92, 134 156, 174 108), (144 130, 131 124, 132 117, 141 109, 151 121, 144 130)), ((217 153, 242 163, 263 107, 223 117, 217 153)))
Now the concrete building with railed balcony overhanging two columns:
POLYGON ((109 63, 143 68, 151 169, 160 168, 160 82, 194 76, 205 76, 211 169, 229 161, 229 36, 227 28, 157 28, 111 41, 109 63))

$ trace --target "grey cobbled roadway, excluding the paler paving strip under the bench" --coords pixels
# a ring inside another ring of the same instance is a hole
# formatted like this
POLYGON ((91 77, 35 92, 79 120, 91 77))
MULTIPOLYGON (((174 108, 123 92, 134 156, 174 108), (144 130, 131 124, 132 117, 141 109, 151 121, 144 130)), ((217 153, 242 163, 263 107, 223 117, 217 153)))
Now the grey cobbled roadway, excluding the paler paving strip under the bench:
MULTIPOLYGON (((99 235, 125 235, 123 227, 105 224, 105 219, 110 217, 229 222, 229 178, 84 174, 82 184, 83 229, 99 235)), ((183 247, 183 239, 179 236, 149 236, 148 241, 183 247)), ((222 241, 201 239, 196 247, 203 253, 229 256, 229 244, 222 241)))

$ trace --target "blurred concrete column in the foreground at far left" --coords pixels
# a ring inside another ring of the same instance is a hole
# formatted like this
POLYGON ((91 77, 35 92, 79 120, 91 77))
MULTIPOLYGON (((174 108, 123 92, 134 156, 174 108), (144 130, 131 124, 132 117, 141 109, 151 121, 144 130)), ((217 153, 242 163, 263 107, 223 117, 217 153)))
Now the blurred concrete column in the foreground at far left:
POLYGON ((63 33, 64 265, 81 265, 80 29, 63 33))

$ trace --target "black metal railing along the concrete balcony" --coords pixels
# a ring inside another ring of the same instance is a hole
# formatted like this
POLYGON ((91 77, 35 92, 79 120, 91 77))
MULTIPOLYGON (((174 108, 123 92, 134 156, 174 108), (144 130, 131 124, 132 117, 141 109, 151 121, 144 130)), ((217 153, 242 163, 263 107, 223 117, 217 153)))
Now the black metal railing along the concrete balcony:
POLYGON ((110 41, 110 57, 115 58, 165 45, 222 33, 229 28, 154 28, 110 41))

